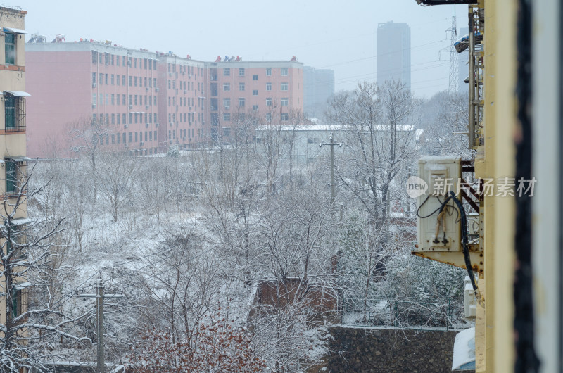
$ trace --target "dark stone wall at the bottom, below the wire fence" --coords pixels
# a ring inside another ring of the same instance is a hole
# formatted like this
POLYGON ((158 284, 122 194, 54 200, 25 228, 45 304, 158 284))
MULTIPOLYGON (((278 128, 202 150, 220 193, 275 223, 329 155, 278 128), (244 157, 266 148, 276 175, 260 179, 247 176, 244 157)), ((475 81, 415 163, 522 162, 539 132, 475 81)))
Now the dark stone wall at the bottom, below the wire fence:
POLYGON ((457 331, 331 330, 328 372, 451 372, 457 331))

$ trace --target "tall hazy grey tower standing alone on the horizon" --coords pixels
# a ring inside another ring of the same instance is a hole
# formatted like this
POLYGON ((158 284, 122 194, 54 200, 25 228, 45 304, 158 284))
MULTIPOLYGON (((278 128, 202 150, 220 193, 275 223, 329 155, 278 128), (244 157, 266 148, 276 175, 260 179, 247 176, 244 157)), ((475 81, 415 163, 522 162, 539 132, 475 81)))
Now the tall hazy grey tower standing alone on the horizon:
POLYGON ((407 23, 377 26, 377 83, 400 80, 410 90, 410 27, 407 23))

